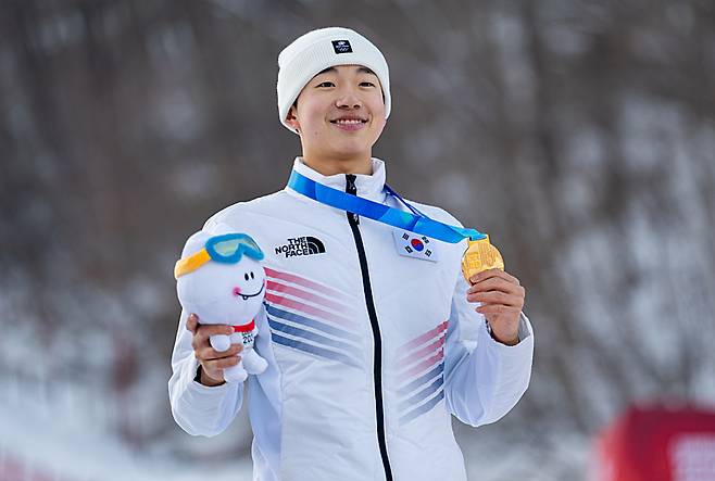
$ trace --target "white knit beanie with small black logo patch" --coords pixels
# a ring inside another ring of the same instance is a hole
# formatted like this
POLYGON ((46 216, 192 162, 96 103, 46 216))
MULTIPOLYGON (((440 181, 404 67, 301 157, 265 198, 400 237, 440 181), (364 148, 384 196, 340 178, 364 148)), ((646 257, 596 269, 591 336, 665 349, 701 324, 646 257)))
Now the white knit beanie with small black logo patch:
POLYGON ((298 37, 278 54, 278 115, 286 116, 300 91, 319 72, 335 65, 362 65, 375 72, 385 96, 385 117, 390 115, 390 74, 382 52, 369 40, 342 27, 328 27, 298 37))

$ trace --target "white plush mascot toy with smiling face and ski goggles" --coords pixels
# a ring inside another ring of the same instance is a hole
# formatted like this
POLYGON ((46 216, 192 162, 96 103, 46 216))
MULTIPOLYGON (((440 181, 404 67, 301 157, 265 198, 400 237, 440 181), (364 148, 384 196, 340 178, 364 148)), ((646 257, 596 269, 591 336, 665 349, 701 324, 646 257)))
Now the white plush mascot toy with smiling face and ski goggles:
POLYGON ((242 343, 238 365, 224 369, 227 382, 244 381, 265 370, 267 363, 253 350, 259 333, 254 317, 265 295, 263 252, 250 236, 218 226, 212 236, 199 231, 186 242, 174 277, 181 307, 199 316, 200 324, 234 327, 230 336, 211 336, 211 346, 223 352, 242 343))

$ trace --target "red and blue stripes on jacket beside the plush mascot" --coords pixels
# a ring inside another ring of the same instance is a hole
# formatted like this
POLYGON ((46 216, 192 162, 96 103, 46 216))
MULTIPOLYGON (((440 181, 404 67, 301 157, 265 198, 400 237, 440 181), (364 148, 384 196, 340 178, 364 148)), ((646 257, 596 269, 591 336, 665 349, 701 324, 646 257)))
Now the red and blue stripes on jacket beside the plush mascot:
POLYGON ((265 267, 265 309, 273 342, 362 367, 354 300, 304 277, 265 267))

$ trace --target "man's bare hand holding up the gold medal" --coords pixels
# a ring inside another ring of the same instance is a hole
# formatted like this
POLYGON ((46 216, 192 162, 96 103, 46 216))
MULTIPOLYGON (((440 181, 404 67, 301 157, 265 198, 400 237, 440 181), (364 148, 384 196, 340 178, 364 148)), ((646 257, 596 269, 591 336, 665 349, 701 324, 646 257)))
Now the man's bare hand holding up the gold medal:
POLYGON ((518 343, 518 326, 526 290, 514 276, 500 270, 488 269, 475 274, 469 279, 467 302, 480 302, 475 311, 484 314, 491 326, 497 341, 515 345, 518 343))

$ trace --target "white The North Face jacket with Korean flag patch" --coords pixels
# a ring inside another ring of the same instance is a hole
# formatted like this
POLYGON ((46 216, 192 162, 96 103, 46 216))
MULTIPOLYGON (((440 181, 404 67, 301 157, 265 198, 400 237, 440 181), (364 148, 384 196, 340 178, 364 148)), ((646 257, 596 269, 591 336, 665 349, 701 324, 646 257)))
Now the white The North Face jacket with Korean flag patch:
MULTIPOLYGON (((346 191, 343 174, 323 176, 300 159, 293 169, 346 191)), ((385 192, 381 161, 373 160, 372 176, 351 177, 358 195, 406 210, 385 192)), ((355 223, 289 187, 231 205, 204 229, 217 223, 249 233, 265 253, 255 349, 268 368, 247 381, 254 480, 465 480, 451 415, 479 426, 509 413, 527 389, 534 351, 525 316, 520 342, 506 346, 467 303, 466 241, 423 238, 410 255, 402 231, 355 223)), ((193 380, 186 316, 172 357, 172 413, 188 433, 211 436, 236 416, 242 384, 193 380)))

